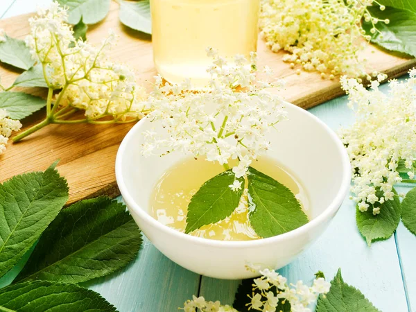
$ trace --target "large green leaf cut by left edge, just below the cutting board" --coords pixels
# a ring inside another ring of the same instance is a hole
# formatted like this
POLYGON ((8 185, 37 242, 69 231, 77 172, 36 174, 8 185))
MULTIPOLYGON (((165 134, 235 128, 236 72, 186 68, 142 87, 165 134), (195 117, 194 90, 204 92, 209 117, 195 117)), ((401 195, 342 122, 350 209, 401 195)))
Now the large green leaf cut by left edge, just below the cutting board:
POLYGON ((55 164, 0 184, 0 277, 39 239, 67 200, 67 181, 55 164))

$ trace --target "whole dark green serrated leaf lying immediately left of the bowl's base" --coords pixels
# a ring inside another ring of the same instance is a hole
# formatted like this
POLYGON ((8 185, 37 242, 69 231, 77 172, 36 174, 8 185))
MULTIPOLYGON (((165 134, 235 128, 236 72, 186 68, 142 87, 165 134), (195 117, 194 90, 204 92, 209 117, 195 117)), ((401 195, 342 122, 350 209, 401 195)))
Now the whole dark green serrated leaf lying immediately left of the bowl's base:
POLYGON ((15 281, 76 284, 103 277, 126 266, 140 245, 125 205, 106 197, 83 200, 53 220, 15 281))

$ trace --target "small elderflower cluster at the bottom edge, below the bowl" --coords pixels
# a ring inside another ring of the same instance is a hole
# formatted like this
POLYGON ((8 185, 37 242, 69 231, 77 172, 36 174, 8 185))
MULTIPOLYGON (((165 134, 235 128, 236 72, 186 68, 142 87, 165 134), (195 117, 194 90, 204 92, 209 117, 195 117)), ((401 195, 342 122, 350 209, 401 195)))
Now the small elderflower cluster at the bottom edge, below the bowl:
MULTIPOLYGON (((314 279, 312 286, 306 286, 302 281, 288 286, 286 277, 282 277, 275 270, 261 270, 253 266, 250 270, 261 274, 261 277, 253 280, 252 294, 248 294, 251 301, 246 304, 249 310, 275 312, 279 302, 289 302, 292 312, 311 312, 308 306, 315 302, 320 294, 328 293, 331 287, 322 277, 314 279)), ((230 306, 221 306, 219 301, 207 302, 204 297, 193 296, 193 300, 184 303, 184 312, 196 312, 197 309, 201 312, 238 312, 230 306)))

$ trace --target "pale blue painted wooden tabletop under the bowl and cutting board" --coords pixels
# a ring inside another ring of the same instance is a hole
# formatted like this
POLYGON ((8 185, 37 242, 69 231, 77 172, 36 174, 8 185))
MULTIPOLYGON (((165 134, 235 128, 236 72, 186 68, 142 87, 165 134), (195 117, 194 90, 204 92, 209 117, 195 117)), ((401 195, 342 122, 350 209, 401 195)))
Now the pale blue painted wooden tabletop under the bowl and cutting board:
MULTIPOLYGON (((0 18, 35 11, 51 0, 0 0, 0 18)), ((382 89, 386 89, 384 85, 382 89)), ((345 96, 310 110, 333 130, 353 121, 345 96)), ((410 186, 398 187, 406 193, 410 186)), ((220 257, 220 255, 219 255, 220 257)), ((341 268, 348 284, 360 288, 383 312, 416 312, 416 236, 400 224, 394 236, 370 248, 358 232, 355 205, 345 199, 320 239, 279 272, 295 282, 311 281, 322 270, 332 278, 341 268)), ((121 312, 171 312, 192 295, 232 304, 239 281, 203 277, 164 257, 148 240, 130 265, 85 286, 101 293, 121 312)), ((356 311, 351 311, 356 312, 356 311)))

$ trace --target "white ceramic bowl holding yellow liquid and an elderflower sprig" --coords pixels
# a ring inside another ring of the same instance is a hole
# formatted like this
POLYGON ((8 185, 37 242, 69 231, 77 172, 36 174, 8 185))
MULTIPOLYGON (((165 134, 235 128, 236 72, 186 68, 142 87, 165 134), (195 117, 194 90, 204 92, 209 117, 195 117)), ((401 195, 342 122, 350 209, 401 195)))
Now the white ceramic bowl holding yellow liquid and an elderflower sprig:
POLYGON ((184 155, 141 156, 142 132, 154 125, 143 119, 125 136, 116 157, 116 180, 130 213, 148 239, 172 261, 193 272, 220 279, 254 274, 245 264, 286 266, 315 239, 342 204, 350 183, 348 155, 340 139, 313 114, 286 105, 289 121, 270 134, 268 157, 284 164, 306 189, 311 221, 279 236, 257 241, 214 241, 177 232, 148 214, 153 187, 164 171, 184 155))

